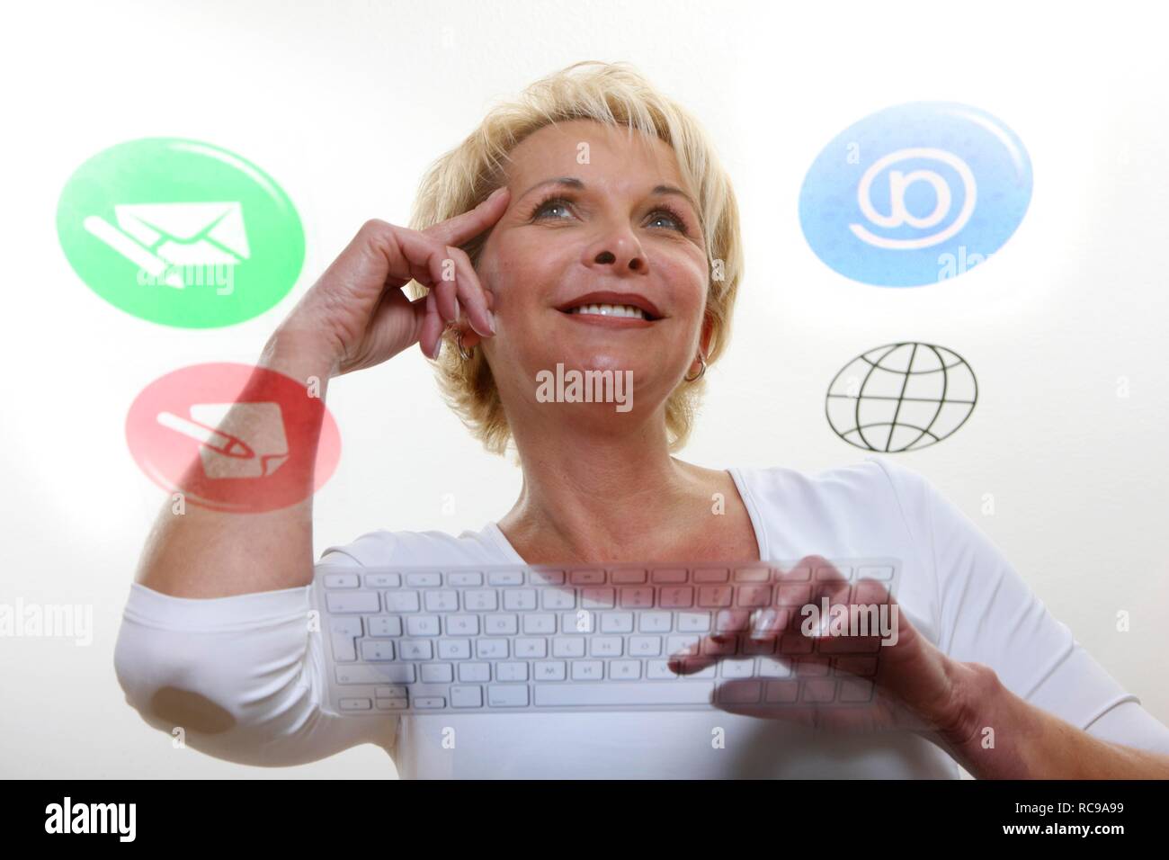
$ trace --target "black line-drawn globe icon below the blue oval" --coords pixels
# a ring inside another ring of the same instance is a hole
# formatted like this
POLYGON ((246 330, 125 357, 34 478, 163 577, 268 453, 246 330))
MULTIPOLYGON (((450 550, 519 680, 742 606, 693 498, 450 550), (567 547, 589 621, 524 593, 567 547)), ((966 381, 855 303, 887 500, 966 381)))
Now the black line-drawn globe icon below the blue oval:
POLYGON ((974 412, 978 384, 956 352, 926 343, 885 344, 852 359, 828 387, 836 434, 864 450, 927 448, 974 412))

